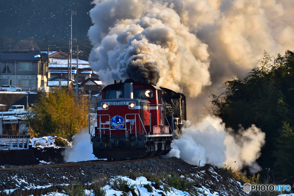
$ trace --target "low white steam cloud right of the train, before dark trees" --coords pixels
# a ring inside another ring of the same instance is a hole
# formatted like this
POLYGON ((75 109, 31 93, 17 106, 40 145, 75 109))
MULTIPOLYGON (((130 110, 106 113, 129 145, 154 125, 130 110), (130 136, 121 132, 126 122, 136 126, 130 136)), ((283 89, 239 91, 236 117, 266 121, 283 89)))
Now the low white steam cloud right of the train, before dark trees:
POLYGON ((255 162, 260 157, 260 149, 265 144, 265 133, 252 125, 244 130, 241 127, 237 135, 226 129, 222 120, 216 116, 207 116, 196 126, 188 126, 179 139, 174 140, 168 157, 176 156, 192 165, 209 163, 218 166, 224 164, 235 169, 249 166, 251 173, 261 170, 255 162))

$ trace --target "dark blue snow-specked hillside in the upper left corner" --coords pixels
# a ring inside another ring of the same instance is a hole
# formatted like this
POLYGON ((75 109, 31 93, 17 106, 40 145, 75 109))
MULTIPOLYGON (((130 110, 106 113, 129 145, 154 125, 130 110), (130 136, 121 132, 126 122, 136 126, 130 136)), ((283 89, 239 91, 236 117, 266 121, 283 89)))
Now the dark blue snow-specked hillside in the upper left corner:
POLYGON ((93 8, 91 0, 1 0, 0 7, 0 35, 4 38, 33 37, 44 41, 65 38, 70 34, 70 8, 76 11, 73 36, 85 39, 92 24, 89 16, 93 8))

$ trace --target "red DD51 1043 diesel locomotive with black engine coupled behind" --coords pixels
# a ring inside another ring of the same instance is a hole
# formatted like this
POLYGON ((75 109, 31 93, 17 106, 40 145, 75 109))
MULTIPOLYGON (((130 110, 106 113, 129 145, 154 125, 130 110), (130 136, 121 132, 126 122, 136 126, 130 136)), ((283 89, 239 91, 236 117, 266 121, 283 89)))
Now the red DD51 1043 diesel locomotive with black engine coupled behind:
POLYGON ((102 90, 91 135, 97 158, 166 155, 186 120, 186 97, 170 89, 127 79, 102 90))

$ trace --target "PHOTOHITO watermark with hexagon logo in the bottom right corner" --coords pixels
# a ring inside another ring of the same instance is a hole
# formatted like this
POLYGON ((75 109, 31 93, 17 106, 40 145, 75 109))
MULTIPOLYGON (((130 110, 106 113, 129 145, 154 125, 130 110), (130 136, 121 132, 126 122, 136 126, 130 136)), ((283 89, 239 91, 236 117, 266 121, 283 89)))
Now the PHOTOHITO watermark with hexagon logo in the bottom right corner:
POLYGON ((250 185, 249 183, 244 184, 244 191, 250 192, 256 191, 290 191, 290 185, 250 185))

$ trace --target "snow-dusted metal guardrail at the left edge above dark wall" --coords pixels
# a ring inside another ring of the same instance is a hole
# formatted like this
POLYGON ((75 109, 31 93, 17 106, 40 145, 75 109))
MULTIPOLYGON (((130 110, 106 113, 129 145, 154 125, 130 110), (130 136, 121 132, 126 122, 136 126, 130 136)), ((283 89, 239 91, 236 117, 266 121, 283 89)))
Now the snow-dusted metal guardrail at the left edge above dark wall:
POLYGON ((29 149, 29 143, 30 135, 0 135, 0 148, 2 149, 29 149))

